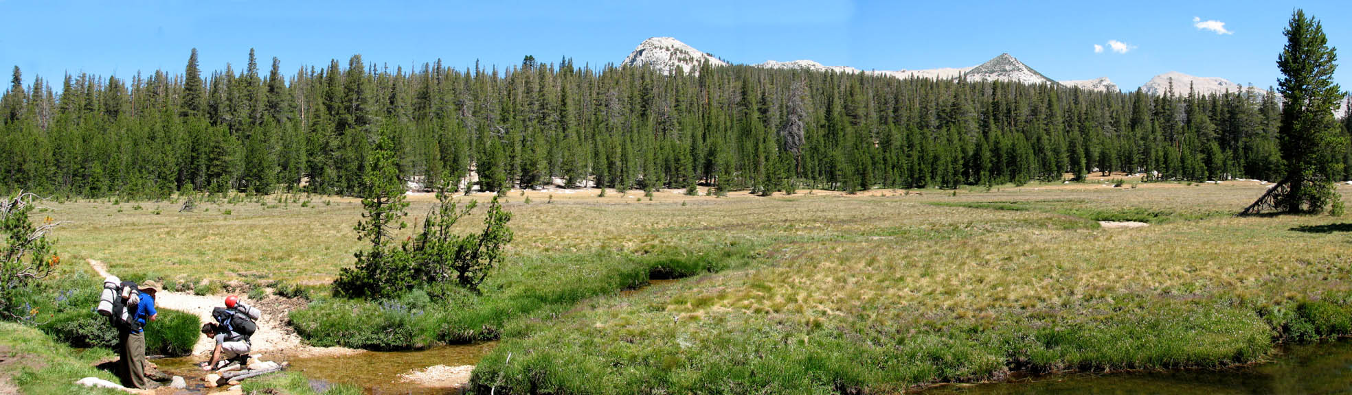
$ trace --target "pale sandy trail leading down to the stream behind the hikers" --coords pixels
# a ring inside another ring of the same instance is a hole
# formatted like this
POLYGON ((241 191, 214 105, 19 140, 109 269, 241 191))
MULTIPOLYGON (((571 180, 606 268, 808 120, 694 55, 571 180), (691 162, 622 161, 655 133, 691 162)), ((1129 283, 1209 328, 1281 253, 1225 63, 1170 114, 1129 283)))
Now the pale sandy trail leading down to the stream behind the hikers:
MULTIPOLYGON (((89 259, 89 266, 93 267, 99 276, 108 276, 108 266, 103 262, 89 259)), ((174 293, 164 290, 160 284, 146 283, 142 287, 153 286, 155 287, 155 309, 169 309, 178 310, 197 315, 201 322, 212 322, 211 309, 224 307, 224 295, 200 297, 193 294, 174 293)), ((262 310, 262 320, 258 320, 258 330, 250 338, 253 344, 251 355, 288 355, 293 357, 307 357, 307 356, 339 356, 339 355, 353 355, 362 352, 360 349, 341 348, 341 346, 308 346, 300 341, 300 336, 287 325, 287 313, 289 309, 280 303, 280 298, 268 297, 264 301, 247 301, 250 306, 262 310)), ((197 356, 208 356, 215 348, 215 344, 201 336, 197 338, 197 344, 192 346, 192 353, 197 356)))

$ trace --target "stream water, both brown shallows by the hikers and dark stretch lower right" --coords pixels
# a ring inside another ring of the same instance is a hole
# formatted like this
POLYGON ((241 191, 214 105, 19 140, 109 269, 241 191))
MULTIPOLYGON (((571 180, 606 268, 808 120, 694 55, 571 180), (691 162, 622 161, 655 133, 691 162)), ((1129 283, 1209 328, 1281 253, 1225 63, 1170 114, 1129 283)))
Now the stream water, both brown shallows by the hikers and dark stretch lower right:
MULTIPOLYGON (((400 383, 399 375, 431 365, 472 365, 496 342, 442 345, 426 351, 364 352, 349 356, 291 359, 291 371, 303 372, 311 387, 333 383, 362 387, 368 394, 460 394, 400 383)), ((201 394, 203 372, 192 357, 155 360, 161 369, 188 380, 188 391, 201 394)), ((1352 341, 1284 345, 1270 363, 1228 369, 1144 371, 1122 373, 1067 373, 1014 379, 990 384, 952 384, 921 391, 925 395, 1007 394, 1352 394, 1352 341)))

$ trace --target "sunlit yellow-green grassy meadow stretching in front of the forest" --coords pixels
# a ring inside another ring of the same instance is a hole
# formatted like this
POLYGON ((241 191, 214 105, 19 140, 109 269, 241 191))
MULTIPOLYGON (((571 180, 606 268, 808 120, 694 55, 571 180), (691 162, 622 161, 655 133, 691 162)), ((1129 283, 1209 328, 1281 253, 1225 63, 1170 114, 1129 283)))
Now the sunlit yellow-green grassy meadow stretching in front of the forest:
MULTIPOLYGON (((1011 369, 1247 363, 1275 340, 1352 333, 1352 221, 1230 216, 1263 190, 1057 183, 854 197, 661 191, 652 201, 514 191, 516 241, 485 295, 571 297, 512 324, 475 384, 876 392, 1011 369), (1101 229, 1098 220, 1152 225, 1101 229), (754 260, 615 293, 646 280, 625 270, 635 259, 729 245, 752 248, 754 260), (602 286, 573 293, 579 283, 602 286)), ((414 201, 410 224, 431 204, 414 201)), ((360 206, 345 198, 195 213, 172 202, 47 206, 37 216, 70 221, 58 233, 66 262, 92 257, 147 278, 324 283, 360 248, 360 206)), ((522 314, 508 307, 488 311, 522 314)))

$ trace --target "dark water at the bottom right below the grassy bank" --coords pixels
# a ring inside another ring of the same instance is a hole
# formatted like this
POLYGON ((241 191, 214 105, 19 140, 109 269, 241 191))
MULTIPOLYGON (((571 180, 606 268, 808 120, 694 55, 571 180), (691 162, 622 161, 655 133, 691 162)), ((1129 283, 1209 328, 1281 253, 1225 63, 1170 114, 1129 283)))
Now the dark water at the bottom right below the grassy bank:
POLYGON ((1352 342, 1288 345, 1275 359, 1221 371, 1059 375, 922 394, 1352 394, 1352 342))

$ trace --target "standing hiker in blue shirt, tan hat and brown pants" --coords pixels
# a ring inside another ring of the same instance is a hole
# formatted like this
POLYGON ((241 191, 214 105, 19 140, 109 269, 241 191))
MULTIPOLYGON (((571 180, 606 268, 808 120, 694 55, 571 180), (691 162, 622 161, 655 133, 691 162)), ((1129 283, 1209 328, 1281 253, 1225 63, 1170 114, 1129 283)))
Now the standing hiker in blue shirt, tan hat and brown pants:
POLYGON ((126 387, 151 390, 158 386, 146 379, 146 324, 160 317, 155 311, 155 288, 137 290, 135 283, 130 283, 127 288, 130 290, 123 293, 126 297, 122 299, 135 302, 123 306, 130 310, 127 320, 114 321, 118 328, 118 353, 122 355, 119 371, 123 372, 126 387))

